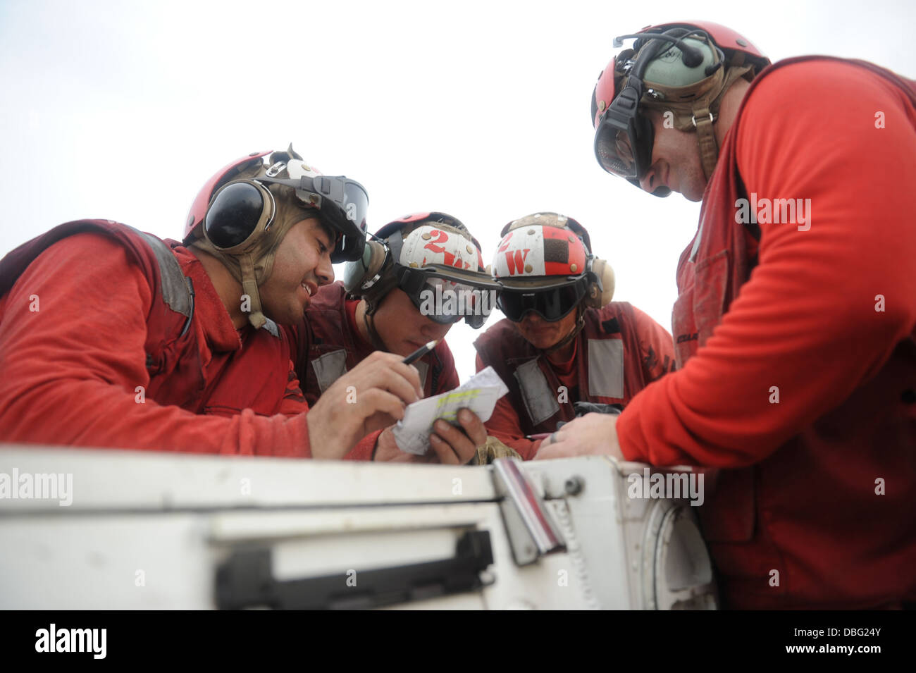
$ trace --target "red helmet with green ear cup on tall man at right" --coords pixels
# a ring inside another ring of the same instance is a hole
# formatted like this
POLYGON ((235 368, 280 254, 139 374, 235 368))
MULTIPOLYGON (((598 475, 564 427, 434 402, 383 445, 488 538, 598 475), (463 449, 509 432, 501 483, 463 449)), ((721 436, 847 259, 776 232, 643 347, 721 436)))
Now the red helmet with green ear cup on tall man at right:
POLYGON ((594 156, 607 172, 638 187, 652 163, 654 130, 646 111, 659 110, 673 128, 696 131, 709 179, 719 152, 713 124, 722 97, 739 77, 756 77, 769 59, 747 38, 709 21, 645 27, 614 38, 614 46, 630 38, 633 48, 607 64, 592 92, 594 156))

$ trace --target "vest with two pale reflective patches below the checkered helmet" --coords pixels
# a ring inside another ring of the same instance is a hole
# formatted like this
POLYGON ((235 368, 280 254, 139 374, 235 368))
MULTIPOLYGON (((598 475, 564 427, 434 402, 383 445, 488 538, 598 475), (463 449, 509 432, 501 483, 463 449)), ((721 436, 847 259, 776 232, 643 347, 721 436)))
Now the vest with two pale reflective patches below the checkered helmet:
MULTIPOLYGON (((480 336, 474 347, 507 385, 508 399, 526 435, 553 432, 557 422, 575 418, 573 403, 627 405, 650 381, 644 373, 633 307, 612 301, 602 309, 585 309, 576 336, 579 392, 565 391, 547 358, 507 319, 480 336)), ((667 367, 666 367, 667 369, 667 367)))

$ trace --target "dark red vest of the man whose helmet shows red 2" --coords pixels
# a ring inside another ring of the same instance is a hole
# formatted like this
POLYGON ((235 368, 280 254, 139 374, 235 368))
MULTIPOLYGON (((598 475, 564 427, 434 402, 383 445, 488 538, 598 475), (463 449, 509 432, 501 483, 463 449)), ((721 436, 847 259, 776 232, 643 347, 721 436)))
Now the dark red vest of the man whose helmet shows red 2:
MULTIPOLYGON (((288 330, 293 350, 298 351, 293 364, 310 405, 368 354, 350 328, 346 299, 339 281, 320 288, 306 309, 304 323, 288 330)), ((443 392, 438 390, 443 364, 435 351, 413 366, 420 372, 424 396, 443 392)))

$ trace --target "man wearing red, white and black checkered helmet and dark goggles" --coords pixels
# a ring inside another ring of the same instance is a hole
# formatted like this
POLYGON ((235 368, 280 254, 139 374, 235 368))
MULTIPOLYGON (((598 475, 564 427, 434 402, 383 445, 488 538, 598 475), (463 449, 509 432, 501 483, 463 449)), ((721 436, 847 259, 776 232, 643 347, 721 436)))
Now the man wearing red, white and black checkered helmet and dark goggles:
POLYGON ((474 342, 477 371, 492 366, 509 392, 485 425, 522 458, 575 418, 576 403, 615 413, 673 368, 671 334, 611 301, 614 272, 572 218, 540 212, 508 223, 492 273, 506 319, 474 342))

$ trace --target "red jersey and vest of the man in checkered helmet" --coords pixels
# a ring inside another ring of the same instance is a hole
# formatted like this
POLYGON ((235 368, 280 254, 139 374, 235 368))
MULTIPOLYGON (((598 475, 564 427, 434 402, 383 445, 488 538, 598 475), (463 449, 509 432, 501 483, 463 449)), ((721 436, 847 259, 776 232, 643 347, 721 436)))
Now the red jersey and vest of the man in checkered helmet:
POLYGON ((626 301, 585 309, 584 318, 573 353, 563 363, 555 354, 537 351, 507 319, 474 342, 477 371, 493 366, 509 388, 486 430, 526 460, 534 458, 542 441, 527 436, 553 432, 559 421, 575 418, 574 402, 626 406, 674 367, 671 334, 626 301))

